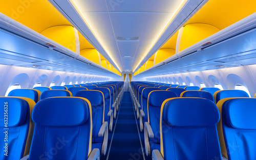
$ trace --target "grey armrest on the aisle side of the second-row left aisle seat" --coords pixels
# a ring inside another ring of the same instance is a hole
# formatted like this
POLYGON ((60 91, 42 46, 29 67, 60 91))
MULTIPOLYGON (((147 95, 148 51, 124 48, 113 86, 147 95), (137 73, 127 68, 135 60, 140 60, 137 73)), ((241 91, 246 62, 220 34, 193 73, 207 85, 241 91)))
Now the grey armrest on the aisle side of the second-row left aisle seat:
POLYGON ((108 122, 104 122, 99 130, 99 137, 103 137, 103 142, 101 145, 101 154, 105 155, 106 154, 106 149, 108 149, 108 141, 109 141, 109 124, 108 122))

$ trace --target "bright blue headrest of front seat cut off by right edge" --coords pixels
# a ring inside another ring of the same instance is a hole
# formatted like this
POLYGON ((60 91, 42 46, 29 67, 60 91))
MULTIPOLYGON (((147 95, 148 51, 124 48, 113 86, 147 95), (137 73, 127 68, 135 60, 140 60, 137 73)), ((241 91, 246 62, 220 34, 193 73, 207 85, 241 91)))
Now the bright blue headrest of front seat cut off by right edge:
POLYGON ((227 125, 237 129, 256 129, 256 98, 235 98, 224 102, 227 125))

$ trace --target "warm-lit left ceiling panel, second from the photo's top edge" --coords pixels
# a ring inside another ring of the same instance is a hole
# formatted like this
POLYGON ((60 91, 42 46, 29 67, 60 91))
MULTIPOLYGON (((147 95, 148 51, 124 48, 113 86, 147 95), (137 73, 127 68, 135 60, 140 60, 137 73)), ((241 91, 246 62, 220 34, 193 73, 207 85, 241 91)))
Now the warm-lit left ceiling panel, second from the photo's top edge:
POLYGON ((109 13, 83 12, 82 14, 90 24, 97 38, 115 38, 109 13))

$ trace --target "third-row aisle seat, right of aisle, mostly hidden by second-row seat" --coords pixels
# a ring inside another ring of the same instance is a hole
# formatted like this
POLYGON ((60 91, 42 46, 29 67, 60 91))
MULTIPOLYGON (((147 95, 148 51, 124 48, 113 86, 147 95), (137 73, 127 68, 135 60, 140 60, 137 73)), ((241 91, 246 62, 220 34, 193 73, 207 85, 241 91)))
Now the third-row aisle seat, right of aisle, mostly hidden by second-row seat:
POLYGON ((157 87, 144 88, 142 90, 142 100, 141 100, 141 108, 140 111, 140 131, 143 130, 143 124, 148 121, 147 119, 147 98, 150 92, 159 91, 160 89, 157 87))

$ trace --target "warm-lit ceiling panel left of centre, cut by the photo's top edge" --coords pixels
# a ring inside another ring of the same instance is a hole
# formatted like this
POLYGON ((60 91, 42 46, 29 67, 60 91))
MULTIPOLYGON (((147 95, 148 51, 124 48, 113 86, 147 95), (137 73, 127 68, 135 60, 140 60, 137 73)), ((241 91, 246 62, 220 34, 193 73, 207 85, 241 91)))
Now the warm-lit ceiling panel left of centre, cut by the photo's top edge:
POLYGON ((75 0, 81 12, 108 12, 105 0, 75 0))

